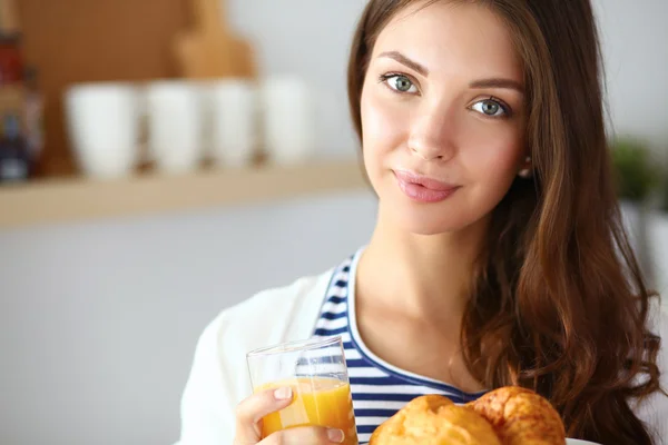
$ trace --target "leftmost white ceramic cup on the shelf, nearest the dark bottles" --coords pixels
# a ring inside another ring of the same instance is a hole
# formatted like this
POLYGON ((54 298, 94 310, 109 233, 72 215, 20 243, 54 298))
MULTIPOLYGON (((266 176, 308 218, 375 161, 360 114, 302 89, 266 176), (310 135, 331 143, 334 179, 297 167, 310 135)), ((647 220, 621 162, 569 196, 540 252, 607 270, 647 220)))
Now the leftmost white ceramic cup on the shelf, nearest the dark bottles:
POLYGON ((138 89, 130 83, 80 83, 66 91, 67 128, 75 157, 90 177, 127 176, 139 151, 138 89))

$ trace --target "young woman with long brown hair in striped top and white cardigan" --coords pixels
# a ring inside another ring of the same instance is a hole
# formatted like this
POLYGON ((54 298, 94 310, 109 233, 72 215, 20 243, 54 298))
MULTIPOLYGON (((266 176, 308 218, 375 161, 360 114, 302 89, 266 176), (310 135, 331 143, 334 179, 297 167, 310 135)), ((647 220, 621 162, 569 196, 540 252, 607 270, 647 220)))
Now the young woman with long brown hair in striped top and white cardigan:
POLYGON ((261 439, 291 393, 248 397, 245 363, 333 334, 361 443, 416 395, 520 385, 552 402, 570 437, 661 444, 668 323, 620 224, 590 2, 371 0, 348 89, 375 231, 333 270, 206 329, 181 444, 340 443, 327 428, 261 439))

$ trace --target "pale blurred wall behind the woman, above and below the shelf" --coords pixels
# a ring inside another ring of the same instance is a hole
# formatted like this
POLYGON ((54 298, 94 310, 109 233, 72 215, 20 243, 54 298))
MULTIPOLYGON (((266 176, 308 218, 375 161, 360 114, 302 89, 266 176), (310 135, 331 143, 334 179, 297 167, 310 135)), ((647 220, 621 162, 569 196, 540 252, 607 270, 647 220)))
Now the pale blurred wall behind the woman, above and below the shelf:
MULTIPOLYGON (((364 1, 229 3, 266 72, 302 73, 324 97, 322 151, 350 156, 345 62, 364 1)), ((659 147, 668 2, 597 4, 615 126, 659 147)), ((373 198, 356 194, 0 231, 0 444, 170 443, 204 325, 255 290, 334 265, 373 219, 373 198)))

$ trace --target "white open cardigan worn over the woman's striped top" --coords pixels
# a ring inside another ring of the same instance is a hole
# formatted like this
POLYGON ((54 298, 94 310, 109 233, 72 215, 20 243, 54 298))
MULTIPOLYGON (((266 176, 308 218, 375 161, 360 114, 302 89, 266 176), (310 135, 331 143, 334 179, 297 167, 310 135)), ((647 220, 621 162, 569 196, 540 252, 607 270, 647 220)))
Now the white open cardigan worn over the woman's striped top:
MULTIPOLYGON (((197 344, 184 392, 181 437, 176 445, 233 443, 236 405, 252 394, 246 353, 311 337, 332 274, 333 269, 262 291, 209 324, 197 344)), ((657 323, 655 333, 664 338, 661 384, 668 389, 668 317, 664 314, 657 323)), ((657 445, 668 445, 668 397, 655 394, 635 411, 656 431, 657 445)))

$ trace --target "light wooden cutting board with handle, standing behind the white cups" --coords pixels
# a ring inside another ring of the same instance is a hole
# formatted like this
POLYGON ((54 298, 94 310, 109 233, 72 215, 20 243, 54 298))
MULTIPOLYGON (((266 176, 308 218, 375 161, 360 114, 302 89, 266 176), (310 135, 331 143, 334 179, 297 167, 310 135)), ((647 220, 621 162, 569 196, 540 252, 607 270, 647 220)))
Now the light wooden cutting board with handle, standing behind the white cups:
POLYGON ((174 51, 181 77, 255 78, 252 46, 228 28, 222 0, 191 0, 195 27, 176 37, 174 51))

